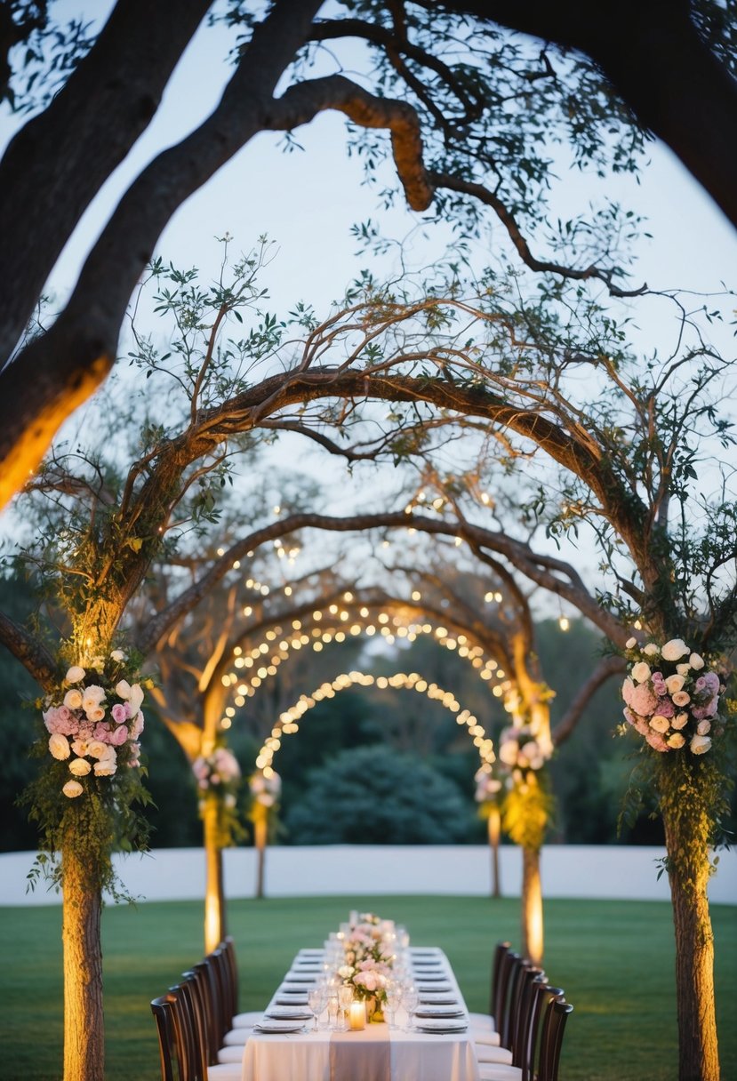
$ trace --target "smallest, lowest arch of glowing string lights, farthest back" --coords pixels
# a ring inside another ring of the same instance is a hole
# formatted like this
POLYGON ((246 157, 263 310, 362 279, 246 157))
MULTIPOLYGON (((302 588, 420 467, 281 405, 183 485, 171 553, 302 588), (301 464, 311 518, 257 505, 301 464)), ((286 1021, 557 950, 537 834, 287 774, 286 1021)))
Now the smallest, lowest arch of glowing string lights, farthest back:
POLYGON ((262 770, 264 776, 270 777, 273 774, 273 757, 281 747, 284 736, 293 735, 299 731, 302 718, 313 709, 320 702, 334 698, 340 691, 347 691, 353 685, 374 686, 379 691, 389 688, 416 691, 427 695, 433 702, 439 702, 445 709, 455 716, 456 723, 466 728, 469 736, 473 739, 474 747, 478 748, 481 759, 481 769, 485 773, 491 773, 496 761, 494 753, 494 740, 486 735, 486 731, 479 719, 468 709, 461 709, 455 695, 450 691, 443 691, 437 683, 428 683, 426 679, 417 672, 396 672, 393 676, 372 676, 367 672, 349 671, 341 672, 334 680, 326 680, 311 694, 300 694, 293 706, 279 715, 279 720, 271 729, 271 734, 264 742, 256 758, 256 769, 262 770))

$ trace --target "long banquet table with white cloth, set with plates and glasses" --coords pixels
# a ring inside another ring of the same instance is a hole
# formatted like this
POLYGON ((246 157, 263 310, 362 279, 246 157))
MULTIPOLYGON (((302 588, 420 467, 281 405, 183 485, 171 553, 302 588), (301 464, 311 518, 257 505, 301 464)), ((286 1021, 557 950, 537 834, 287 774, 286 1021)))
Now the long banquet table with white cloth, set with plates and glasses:
MULTIPOLYGON (((419 988, 424 986, 420 957, 432 956, 441 962, 434 971, 442 973, 446 985, 451 985, 448 998, 455 999, 467 1017, 458 984, 442 950, 411 949, 410 953, 413 963, 417 964, 415 982, 419 988)), ((317 957, 318 951, 313 950, 300 951, 295 957, 290 972, 266 1007, 265 1025, 270 1014, 283 1017, 289 1009, 280 1009, 280 1003, 285 1001, 284 988, 299 986, 295 980, 302 982, 305 988, 309 986, 309 973, 314 970, 317 957)), ((425 1009, 428 1014, 437 1015, 439 1010, 431 1005, 437 996, 433 996, 431 985, 425 986, 427 999, 424 1001, 420 989, 417 1013, 421 1014, 425 1009)), ((421 1024, 421 1017, 417 1022, 421 1024)), ((437 1019, 429 1023, 440 1024, 437 1019)), ((306 1019, 305 1024, 311 1029, 311 1019, 306 1019)), ((456 1032, 404 1031, 379 1023, 347 1032, 324 1028, 318 1032, 254 1030, 243 1053, 243 1081, 479 1081, 479 1066, 468 1029, 456 1032)))

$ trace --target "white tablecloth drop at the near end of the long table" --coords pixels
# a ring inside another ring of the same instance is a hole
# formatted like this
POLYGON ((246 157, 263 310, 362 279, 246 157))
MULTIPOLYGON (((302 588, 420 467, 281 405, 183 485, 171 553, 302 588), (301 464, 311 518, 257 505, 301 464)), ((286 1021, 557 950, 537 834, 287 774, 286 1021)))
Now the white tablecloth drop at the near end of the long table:
MULTIPOLYGON (((457 984, 447 959, 447 978, 457 984)), ((416 978, 421 980, 420 976, 416 978)), ((458 1001, 464 1001, 458 991, 458 1001)), ((465 1007, 465 1006, 464 1006, 465 1007)), ((268 1007, 267 1007, 268 1012, 268 1007)), ((308 1023, 311 1025, 311 1022, 308 1023)), ((391 1081, 478 1081, 479 1067, 469 1032, 404 1032, 388 1025, 367 1025, 363 1031, 349 1032, 341 1040, 354 1041, 357 1065, 350 1076, 331 1077, 332 1032, 258 1033, 249 1037, 243 1052, 243 1081, 357 1081, 363 1075, 358 1063, 361 1045, 371 1040, 389 1043, 391 1081)), ((345 1059, 344 1059, 345 1060, 345 1059)), ((374 1081, 374 1079, 365 1079, 374 1081)), ((375 1081, 386 1081, 376 1078, 375 1081)))

